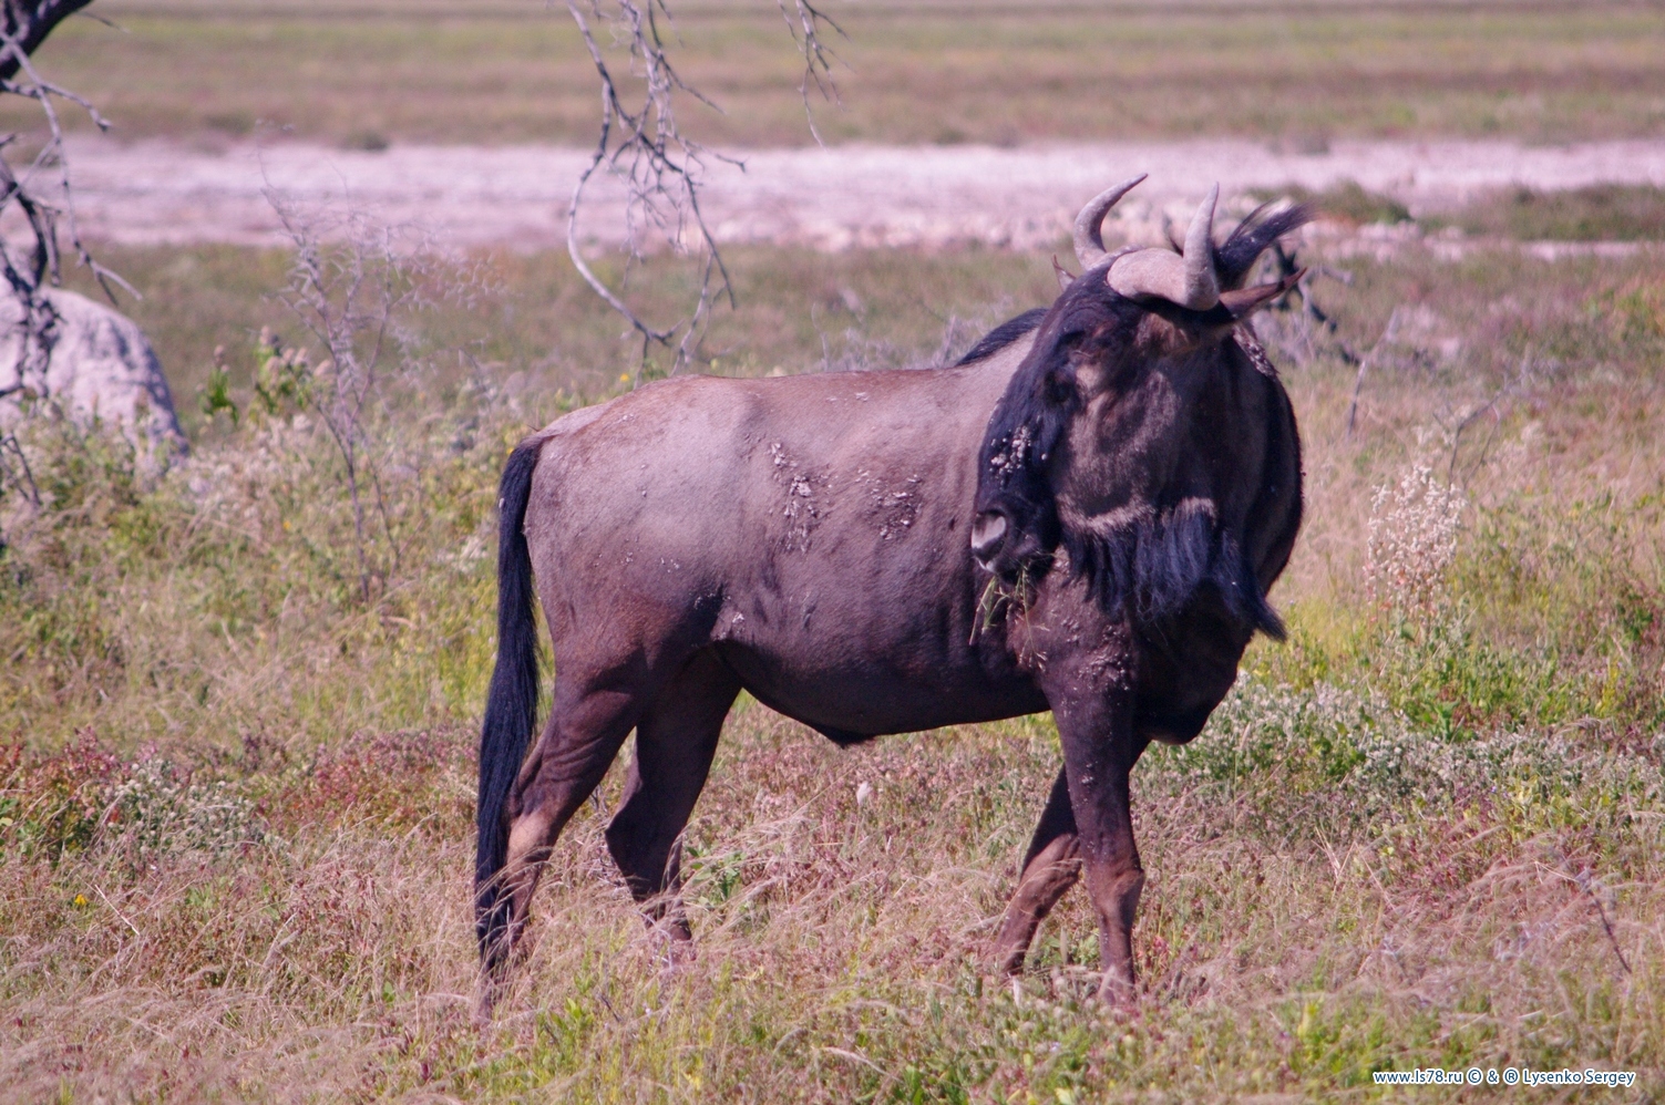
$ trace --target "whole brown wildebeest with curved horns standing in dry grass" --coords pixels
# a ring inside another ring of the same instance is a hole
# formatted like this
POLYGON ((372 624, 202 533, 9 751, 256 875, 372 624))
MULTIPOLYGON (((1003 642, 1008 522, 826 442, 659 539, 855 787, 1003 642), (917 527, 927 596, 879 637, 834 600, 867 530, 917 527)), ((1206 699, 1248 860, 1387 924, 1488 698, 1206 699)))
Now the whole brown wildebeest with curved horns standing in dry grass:
POLYGON ((526 438, 501 483, 498 664, 480 742, 485 1005, 541 864, 626 736, 608 847, 689 939, 679 837, 741 689, 839 744, 1051 709, 1064 764, 996 942, 1019 970, 1084 872, 1104 994, 1132 995, 1129 771, 1237 674, 1300 524, 1295 419, 1242 288, 1300 226, 1260 210, 1175 250, 1102 245, 1046 311, 936 369, 674 378, 526 438), (536 579, 536 589, 534 589, 536 579), (539 602, 554 704, 536 747, 539 602))

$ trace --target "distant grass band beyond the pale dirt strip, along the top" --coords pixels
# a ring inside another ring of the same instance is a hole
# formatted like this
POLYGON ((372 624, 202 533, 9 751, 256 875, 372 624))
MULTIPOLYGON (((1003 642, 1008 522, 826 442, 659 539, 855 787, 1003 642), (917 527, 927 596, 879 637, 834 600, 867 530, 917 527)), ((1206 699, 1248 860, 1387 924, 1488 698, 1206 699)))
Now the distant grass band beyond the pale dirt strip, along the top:
MULTIPOLYGON (((123 138, 288 133, 385 141, 593 140, 564 13, 514 5, 100 5, 37 60, 123 138)), ((811 141, 773 3, 681 7, 684 107, 719 145, 811 141)), ((828 141, 1257 136, 1658 136, 1665 17, 1630 3, 847 5, 828 141), (929 110, 921 110, 929 107, 929 110)), ((30 105, 0 126, 32 130, 30 105)))

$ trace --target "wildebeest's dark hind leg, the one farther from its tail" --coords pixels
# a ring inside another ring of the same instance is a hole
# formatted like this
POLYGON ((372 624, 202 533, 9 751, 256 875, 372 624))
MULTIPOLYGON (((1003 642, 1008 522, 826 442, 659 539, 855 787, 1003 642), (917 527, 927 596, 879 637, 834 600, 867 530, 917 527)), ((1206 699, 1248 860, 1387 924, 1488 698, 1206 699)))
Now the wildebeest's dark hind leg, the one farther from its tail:
POLYGON ((683 829, 706 785, 739 679, 713 652, 696 652, 636 724, 636 759, 624 804, 608 825, 608 850, 649 925, 691 939, 681 902, 683 829))

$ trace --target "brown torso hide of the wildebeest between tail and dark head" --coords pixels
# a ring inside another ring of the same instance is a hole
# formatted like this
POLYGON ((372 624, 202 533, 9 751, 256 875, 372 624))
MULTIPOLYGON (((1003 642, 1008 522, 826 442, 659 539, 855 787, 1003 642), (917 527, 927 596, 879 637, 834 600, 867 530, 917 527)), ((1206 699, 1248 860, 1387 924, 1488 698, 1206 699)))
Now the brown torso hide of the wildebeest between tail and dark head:
POLYGON ((653 696, 711 647, 841 741, 1046 709, 997 637, 972 642, 966 552, 977 443, 1027 344, 668 379, 549 426, 524 528, 558 696, 653 696))

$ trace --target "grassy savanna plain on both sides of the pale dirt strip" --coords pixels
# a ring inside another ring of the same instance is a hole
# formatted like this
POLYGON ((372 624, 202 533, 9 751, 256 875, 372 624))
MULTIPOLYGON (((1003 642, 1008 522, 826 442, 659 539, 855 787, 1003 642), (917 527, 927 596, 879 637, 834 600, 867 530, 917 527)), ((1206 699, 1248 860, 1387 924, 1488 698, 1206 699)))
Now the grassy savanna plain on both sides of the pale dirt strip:
MULTIPOLYGON (((553 15, 413 10, 112 5, 125 38, 72 25, 38 60, 186 141, 261 120, 343 145, 586 136, 553 15), (415 85, 431 110, 395 95, 415 85)), ((683 23, 689 75, 729 108, 716 138, 804 138, 764 15, 683 23)), ((1647 5, 844 23, 829 141, 1665 131, 1647 5)), ((191 453, 38 418, 20 443, 40 506, 15 481, 0 499, 0 1098, 1665 1095, 1665 196, 1477 196, 1422 223, 1357 188, 1312 200, 1305 293, 1260 321, 1305 446, 1272 594, 1290 639, 1252 646, 1207 731, 1134 774, 1134 1010, 1091 998, 1079 892, 1016 982, 986 960, 1057 769, 1049 717, 839 751, 743 699, 686 837, 698 959, 668 969, 606 855, 621 761, 476 1028, 496 476, 528 428, 668 364, 619 341, 564 256, 316 245, 326 301, 353 265, 388 296, 360 301, 390 325, 355 509, 326 418, 345 384, 295 295, 308 255, 100 248, 145 295, 123 310, 191 453), (1372 1083, 1412 1067, 1638 1082, 1372 1083)), ((1049 255, 984 248, 728 261, 738 308, 699 371, 942 363, 1056 288, 1049 255)), ((631 288, 658 315, 691 293, 669 258, 631 288)), ((368 354, 366 333, 346 339, 368 354)))

